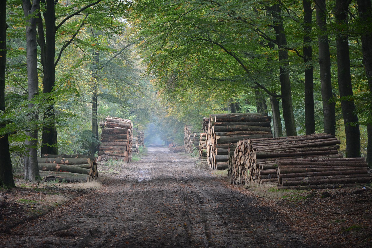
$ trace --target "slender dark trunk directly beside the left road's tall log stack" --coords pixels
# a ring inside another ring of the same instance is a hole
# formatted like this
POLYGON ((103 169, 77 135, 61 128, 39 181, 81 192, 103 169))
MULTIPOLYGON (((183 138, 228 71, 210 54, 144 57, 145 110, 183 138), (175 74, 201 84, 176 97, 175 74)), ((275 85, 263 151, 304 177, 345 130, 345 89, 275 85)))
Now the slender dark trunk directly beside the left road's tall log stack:
POLYGON ((99 63, 99 52, 94 50, 94 77, 93 77, 93 92, 92 92, 92 156, 98 151, 98 114, 97 114, 97 81, 98 81, 98 63, 99 63))

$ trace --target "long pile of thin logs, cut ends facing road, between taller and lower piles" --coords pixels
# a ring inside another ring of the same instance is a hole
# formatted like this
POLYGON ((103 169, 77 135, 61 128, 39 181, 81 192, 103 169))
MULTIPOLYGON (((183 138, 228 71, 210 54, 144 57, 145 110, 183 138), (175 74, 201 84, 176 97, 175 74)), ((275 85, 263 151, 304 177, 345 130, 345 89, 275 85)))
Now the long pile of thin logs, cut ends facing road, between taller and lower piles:
POLYGON ((229 160, 231 182, 276 182, 279 159, 342 158, 339 144, 340 140, 330 134, 242 140, 229 160))

